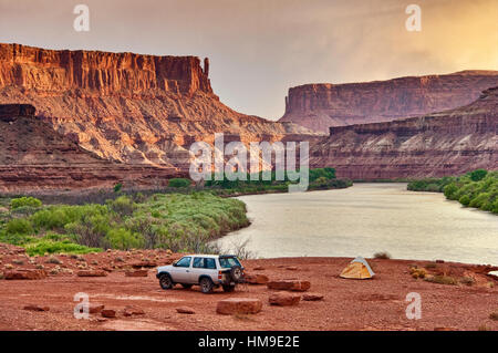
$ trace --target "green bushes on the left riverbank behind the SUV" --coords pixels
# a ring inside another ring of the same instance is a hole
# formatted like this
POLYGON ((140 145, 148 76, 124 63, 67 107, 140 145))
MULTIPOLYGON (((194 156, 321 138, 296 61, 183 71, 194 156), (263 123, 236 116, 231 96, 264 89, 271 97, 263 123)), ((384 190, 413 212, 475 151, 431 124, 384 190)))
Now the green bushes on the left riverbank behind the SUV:
POLYGON ((137 194, 103 205, 43 206, 33 198, 8 205, 0 208, 0 242, 22 246, 31 256, 105 248, 209 252, 209 241, 249 225, 242 201, 210 193, 137 194))

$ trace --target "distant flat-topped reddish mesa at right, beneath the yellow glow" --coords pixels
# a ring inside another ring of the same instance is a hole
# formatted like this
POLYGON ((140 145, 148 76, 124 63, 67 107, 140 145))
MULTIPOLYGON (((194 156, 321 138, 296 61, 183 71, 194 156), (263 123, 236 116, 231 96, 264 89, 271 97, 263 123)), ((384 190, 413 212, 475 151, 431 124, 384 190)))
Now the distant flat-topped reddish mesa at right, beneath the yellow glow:
POLYGON ((456 108, 498 85, 498 71, 463 71, 448 75, 401 77, 351 84, 308 84, 289 90, 286 114, 310 129, 388 122, 456 108))

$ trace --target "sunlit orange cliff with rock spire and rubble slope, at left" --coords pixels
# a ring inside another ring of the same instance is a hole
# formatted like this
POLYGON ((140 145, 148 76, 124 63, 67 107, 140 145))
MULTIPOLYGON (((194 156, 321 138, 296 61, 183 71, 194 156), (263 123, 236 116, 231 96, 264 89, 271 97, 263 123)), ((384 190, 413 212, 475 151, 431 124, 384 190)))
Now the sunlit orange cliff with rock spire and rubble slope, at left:
MULTIPOLYGON (((29 103, 55 131, 101 157, 187 169, 194 141, 214 134, 279 141, 307 129, 219 102, 209 61, 0 44, 0 103, 29 103)), ((304 135, 302 135, 304 134, 304 135)))

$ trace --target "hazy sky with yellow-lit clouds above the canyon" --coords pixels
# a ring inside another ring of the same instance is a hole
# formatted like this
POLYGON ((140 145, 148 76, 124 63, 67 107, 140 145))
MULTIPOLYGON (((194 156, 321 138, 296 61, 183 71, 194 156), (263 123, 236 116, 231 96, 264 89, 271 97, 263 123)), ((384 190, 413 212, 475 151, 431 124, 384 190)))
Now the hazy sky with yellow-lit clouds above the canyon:
POLYGON ((277 120, 301 84, 498 70, 498 1, 0 0, 0 42, 208 56, 225 104, 277 120), (73 28, 80 3, 89 32, 73 28))

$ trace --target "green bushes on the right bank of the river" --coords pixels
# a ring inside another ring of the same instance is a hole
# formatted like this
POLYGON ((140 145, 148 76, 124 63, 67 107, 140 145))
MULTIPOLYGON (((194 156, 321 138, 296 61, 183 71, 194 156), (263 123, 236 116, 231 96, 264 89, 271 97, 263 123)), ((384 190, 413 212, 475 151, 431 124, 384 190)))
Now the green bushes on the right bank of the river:
POLYGON ((425 178, 408 184, 412 191, 444 193, 465 207, 498 214, 498 172, 477 169, 463 176, 425 178))

